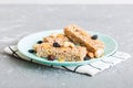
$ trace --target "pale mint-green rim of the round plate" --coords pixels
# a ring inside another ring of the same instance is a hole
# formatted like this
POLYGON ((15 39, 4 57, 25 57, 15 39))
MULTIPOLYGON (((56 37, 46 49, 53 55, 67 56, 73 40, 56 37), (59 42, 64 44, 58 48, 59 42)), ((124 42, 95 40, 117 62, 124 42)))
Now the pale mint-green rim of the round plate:
MULTIPOLYGON (((47 32, 51 32, 51 33, 53 33, 53 31, 55 31, 55 32, 62 32, 62 30, 52 30, 52 31, 42 31, 42 32, 45 32, 45 33, 47 33, 47 32)), ((96 61, 100 61, 100 59, 102 59, 102 58, 104 58, 104 57, 108 57, 108 56, 114 54, 114 53, 116 52, 116 50, 117 50, 117 43, 116 43, 116 41, 115 41, 114 38, 112 38, 111 36, 104 35, 104 34, 99 33, 99 32, 88 31, 89 33, 92 33, 92 34, 93 34, 93 33, 95 33, 95 34, 101 34, 101 35, 103 35, 103 36, 112 40, 113 43, 114 43, 114 45, 115 45, 115 48, 114 48, 109 55, 105 55, 105 56, 100 57, 100 58, 93 58, 93 59, 90 59, 90 61, 84 61, 84 62, 52 62, 52 61, 48 61, 48 59, 44 59, 44 58, 41 58, 41 57, 37 57, 37 56, 34 57, 34 56, 32 56, 32 55, 29 56, 30 53, 28 54, 28 53, 21 51, 21 50, 22 50, 22 48, 21 48, 21 44, 22 44, 23 40, 25 40, 25 38, 29 37, 29 36, 32 36, 32 35, 39 34, 39 33, 42 33, 42 32, 38 32, 38 33, 33 33, 33 34, 27 35, 27 36, 24 36, 23 38, 21 38, 21 40, 19 41, 19 43, 18 43, 18 50, 19 50, 19 52, 20 52, 22 55, 24 55, 24 56, 27 56, 27 57, 30 57, 30 58, 32 59, 32 62, 39 63, 39 64, 54 65, 54 66, 75 66, 75 65, 84 65, 84 64, 90 64, 90 63, 92 63, 92 62, 96 62, 96 61)))

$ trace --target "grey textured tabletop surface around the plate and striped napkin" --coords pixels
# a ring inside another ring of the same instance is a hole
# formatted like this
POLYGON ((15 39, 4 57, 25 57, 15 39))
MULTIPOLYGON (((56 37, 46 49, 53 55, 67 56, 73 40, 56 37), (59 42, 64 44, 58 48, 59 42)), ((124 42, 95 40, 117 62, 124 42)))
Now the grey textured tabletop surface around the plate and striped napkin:
POLYGON ((24 35, 71 23, 113 36, 133 55, 133 6, 0 6, 0 88, 133 88, 132 58, 89 77, 3 53, 24 35))

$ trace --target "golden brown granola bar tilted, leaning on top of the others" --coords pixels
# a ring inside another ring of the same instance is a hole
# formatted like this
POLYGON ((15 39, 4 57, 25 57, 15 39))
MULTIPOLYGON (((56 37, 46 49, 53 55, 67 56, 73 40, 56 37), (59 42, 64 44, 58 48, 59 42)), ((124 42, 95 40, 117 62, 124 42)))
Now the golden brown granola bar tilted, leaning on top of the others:
POLYGON ((64 28, 64 34, 75 44, 81 44, 92 52, 95 57, 101 57, 104 53, 104 44, 100 40, 92 40, 91 35, 78 25, 64 28))

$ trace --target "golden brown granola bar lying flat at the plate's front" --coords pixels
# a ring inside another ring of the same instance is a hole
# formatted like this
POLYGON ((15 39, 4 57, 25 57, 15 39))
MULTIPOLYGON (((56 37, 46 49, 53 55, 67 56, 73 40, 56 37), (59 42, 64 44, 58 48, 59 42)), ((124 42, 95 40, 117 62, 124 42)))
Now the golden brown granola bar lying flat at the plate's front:
POLYGON ((62 58, 65 62, 82 62, 86 56, 86 48, 81 46, 53 47, 50 43, 42 43, 35 46, 35 51, 39 57, 53 55, 55 58, 62 58))

